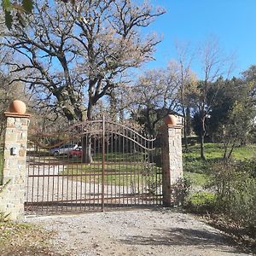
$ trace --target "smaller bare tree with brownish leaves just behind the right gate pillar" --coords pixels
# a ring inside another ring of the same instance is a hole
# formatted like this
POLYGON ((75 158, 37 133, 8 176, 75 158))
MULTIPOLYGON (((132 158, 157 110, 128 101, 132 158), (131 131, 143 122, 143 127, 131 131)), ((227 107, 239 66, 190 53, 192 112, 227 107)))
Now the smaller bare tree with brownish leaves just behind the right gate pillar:
POLYGON ((136 84, 125 89, 125 104, 131 115, 145 124, 146 131, 154 135, 156 125, 167 113, 177 108, 177 66, 152 69, 143 73, 136 84), (127 93, 128 92, 128 93, 127 93))

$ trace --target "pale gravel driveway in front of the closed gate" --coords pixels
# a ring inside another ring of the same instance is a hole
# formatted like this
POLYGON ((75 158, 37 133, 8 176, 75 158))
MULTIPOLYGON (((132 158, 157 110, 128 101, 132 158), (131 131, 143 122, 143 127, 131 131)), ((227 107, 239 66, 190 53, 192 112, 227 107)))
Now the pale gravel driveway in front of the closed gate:
POLYGON ((162 208, 32 217, 26 222, 55 231, 53 249, 67 255, 250 255, 193 216, 162 208))

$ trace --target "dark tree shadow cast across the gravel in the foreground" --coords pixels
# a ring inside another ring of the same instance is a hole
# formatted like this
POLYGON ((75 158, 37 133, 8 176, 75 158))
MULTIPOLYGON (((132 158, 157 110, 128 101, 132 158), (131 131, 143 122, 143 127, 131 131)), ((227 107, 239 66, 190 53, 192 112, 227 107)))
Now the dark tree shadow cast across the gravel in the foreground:
POLYGON ((224 247, 230 245, 230 239, 207 230, 193 230, 175 228, 172 230, 159 230, 163 235, 151 236, 131 236, 121 240, 129 245, 149 245, 149 246, 196 246, 196 247, 217 247, 218 251, 241 253, 236 247, 224 247))

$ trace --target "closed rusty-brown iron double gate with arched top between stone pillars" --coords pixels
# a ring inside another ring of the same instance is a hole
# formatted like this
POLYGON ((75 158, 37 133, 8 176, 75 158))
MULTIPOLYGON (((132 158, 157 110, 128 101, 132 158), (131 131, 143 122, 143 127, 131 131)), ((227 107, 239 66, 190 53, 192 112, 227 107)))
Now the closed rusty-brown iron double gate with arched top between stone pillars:
POLYGON ((27 214, 162 204, 160 138, 104 118, 29 137, 27 214))

